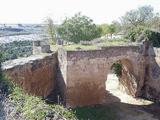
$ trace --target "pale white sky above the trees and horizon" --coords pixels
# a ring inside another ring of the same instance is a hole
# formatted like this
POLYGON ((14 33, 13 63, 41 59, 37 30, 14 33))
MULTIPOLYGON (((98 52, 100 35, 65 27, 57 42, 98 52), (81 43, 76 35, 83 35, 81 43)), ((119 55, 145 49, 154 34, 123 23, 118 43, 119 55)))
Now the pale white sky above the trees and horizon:
POLYGON ((59 24, 78 12, 96 24, 111 23, 143 5, 160 12, 160 0, 0 0, 0 23, 39 24, 51 17, 59 24))

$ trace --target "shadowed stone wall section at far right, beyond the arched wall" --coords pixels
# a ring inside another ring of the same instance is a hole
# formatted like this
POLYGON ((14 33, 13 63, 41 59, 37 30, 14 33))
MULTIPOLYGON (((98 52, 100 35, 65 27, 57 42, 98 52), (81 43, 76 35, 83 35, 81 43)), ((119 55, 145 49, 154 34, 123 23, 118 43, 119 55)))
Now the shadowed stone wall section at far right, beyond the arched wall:
POLYGON ((160 48, 149 48, 146 65, 145 97, 160 100, 160 48))

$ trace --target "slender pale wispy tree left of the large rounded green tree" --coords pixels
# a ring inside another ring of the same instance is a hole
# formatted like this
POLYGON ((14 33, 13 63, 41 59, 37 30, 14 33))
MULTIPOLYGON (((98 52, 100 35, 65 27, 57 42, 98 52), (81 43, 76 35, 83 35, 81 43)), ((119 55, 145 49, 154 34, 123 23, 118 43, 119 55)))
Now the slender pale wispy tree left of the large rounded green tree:
POLYGON ((55 28, 55 25, 53 24, 53 20, 50 17, 48 17, 45 20, 45 31, 50 36, 53 44, 55 44, 56 43, 56 28, 55 28))

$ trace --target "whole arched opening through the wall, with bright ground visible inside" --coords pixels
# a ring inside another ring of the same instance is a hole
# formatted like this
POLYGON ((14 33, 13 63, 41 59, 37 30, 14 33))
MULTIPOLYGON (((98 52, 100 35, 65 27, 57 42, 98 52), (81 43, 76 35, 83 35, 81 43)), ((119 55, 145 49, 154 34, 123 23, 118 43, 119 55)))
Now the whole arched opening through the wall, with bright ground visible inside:
POLYGON ((137 90, 136 77, 132 62, 121 59, 114 62, 105 82, 106 91, 125 101, 129 96, 135 96, 137 90))

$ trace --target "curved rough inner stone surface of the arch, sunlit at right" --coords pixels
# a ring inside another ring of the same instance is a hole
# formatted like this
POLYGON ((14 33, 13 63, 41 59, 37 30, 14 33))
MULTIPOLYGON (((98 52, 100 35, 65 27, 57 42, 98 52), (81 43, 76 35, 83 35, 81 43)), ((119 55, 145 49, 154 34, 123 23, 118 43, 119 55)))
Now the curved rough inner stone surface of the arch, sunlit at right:
MULTIPOLYGON (((121 76, 119 77, 120 89, 129 95, 136 96, 137 92, 137 79, 134 73, 133 62, 128 58, 120 58, 113 60, 109 64, 109 70, 107 72, 107 77, 110 71, 112 71, 112 65, 114 63, 119 63, 122 65, 121 76)), ((107 80, 107 78, 106 78, 107 80)), ((106 81, 105 81, 106 82, 106 81)), ((107 85, 106 85, 107 86, 107 85)))

